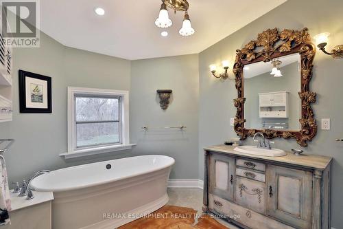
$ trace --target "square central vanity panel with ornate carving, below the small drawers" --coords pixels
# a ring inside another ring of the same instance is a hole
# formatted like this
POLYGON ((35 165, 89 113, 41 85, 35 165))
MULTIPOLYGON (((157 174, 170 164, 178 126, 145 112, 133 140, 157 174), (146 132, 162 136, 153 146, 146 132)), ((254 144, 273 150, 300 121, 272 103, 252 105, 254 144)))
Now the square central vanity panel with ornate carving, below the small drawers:
POLYGON ((245 208, 265 214, 267 212, 265 183, 244 177, 236 177, 236 203, 245 208))

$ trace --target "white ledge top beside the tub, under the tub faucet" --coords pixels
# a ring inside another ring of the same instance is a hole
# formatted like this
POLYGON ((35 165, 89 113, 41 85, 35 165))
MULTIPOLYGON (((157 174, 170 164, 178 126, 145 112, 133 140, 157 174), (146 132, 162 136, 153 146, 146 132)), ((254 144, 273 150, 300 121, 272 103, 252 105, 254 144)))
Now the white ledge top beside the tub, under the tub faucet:
POLYGON ((51 201, 54 199, 54 195, 52 192, 36 192, 34 193, 34 199, 26 199, 26 197, 19 197, 19 193, 12 193, 13 190, 10 190, 10 197, 11 197, 11 206, 12 210, 19 210, 21 208, 27 208, 29 206, 33 206, 36 204, 41 204, 46 201, 51 201))

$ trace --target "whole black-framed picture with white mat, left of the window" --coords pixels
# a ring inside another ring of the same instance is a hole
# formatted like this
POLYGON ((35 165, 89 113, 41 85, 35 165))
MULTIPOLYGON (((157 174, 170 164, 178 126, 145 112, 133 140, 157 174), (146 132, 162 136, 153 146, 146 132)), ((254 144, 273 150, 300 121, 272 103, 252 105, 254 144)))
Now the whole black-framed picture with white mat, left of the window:
POLYGON ((51 113, 51 77, 19 70, 21 113, 51 113))

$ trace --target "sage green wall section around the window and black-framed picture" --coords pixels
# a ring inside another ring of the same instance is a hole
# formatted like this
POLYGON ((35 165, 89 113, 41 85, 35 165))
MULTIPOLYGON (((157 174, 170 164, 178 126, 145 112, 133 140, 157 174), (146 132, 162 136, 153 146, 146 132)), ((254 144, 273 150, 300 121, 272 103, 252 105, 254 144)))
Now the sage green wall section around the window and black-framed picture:
POLYGON ((16 140, 5 154, 10 182, 21 182, 43 168, 54 170, 122 156, 64 161, 59 154, 67 151, 67 87, 129 90, 130 61, 64 47, 41 33, 40 48, 15 48, 13 63, 13 121, 0 123, 0 138, 16 140), (51 76, 52 113, 19 113, 19 69, 51 76))

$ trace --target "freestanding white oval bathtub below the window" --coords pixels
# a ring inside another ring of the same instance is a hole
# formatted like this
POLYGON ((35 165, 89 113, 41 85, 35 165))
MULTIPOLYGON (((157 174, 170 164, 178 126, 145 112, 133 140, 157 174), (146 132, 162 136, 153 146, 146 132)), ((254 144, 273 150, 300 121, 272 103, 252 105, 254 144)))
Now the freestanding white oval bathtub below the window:
POLYGON ((40 175, 31 186, 54 192, 53 229, 113 229, 167 204, 174 162, 143 155, 84 164, 40 175))

